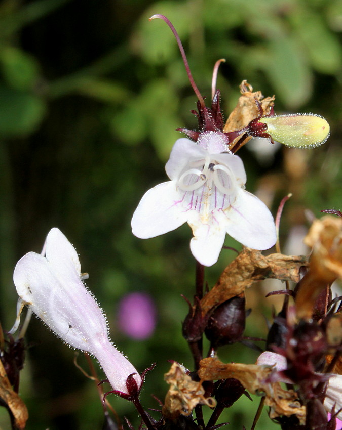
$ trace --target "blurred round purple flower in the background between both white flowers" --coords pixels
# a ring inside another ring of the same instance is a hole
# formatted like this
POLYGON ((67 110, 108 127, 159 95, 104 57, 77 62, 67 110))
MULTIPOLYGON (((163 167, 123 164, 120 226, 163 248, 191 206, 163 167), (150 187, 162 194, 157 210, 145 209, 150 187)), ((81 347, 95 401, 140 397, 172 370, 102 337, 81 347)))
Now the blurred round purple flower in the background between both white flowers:
POLYGON ((118 322, 127 336, 137 340, 147 339, 156 327, 153 299, 142 292, 125 295, 119 304, 118 322))

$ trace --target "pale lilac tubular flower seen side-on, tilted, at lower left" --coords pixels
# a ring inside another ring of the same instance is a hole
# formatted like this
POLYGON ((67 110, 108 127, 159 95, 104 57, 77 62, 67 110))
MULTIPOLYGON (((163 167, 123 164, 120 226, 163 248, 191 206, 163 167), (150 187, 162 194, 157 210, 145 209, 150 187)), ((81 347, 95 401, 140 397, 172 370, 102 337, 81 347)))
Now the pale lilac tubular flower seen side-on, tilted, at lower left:
POLYGON ((97 358, 113 390, 128 394, 132 373, 141 385, 138 372, 109 340, 105 316, 82 281, 78 254, 60 230, 49 232, 46 257, 29 252, 19 260, 13 279, 20 298, 57 336, 97 358))

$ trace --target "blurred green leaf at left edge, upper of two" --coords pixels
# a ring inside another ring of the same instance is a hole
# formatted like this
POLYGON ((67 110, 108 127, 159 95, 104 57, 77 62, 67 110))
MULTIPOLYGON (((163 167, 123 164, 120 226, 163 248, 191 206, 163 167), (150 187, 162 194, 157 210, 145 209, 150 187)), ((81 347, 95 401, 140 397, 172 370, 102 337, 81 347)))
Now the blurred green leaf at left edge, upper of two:
POLYGON ((0 62, 4 79, 17 90, 32 88, 39 75, 39 65, 35 59, 13 47, 0 50, 0 62))

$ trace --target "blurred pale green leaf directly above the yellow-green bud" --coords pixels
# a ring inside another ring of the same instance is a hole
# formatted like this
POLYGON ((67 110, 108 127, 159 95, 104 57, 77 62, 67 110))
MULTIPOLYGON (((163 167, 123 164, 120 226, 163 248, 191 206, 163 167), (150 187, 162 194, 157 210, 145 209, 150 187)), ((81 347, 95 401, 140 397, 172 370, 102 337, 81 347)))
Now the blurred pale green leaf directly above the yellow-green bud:
POLYGON ((268 57, 262 64, 277 98, 289 108, 307 102, 311 95, 312 73, 296 42, 289 37, 268 42, 268 57))

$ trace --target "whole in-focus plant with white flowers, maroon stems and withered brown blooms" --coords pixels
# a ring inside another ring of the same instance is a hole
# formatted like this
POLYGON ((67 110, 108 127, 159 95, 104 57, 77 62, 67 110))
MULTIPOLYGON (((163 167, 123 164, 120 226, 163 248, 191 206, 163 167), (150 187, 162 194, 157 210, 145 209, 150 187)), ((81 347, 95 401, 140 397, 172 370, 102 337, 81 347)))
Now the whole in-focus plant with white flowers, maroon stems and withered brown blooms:
MULTIPOLYGON (((252 138, 278 141, 296 148, 323 144, 329 136, 327 121, 313 114, 277 116, 273 98, 263 98, 243 81, 239 103, 224 124, 220 93, 216 91, 219 60, 214 68, 211 107, 205 105, 185 57, 180 39, 170 21, 188 74, 198 98, 199 130, 179 129, 187 137, 172 148, 166 164, 169 181, 157 185, 142 197, 132 218, 133 234, 148 239, 170 232, 185 222, 193 231, 191 252, 196 259, 194 303, 183 321, 182 334, 193 356, 194 368, 177 361, 165 374, 170 385, 161 411, 152 417, 140 402, 146 374, 111 343, 103 311, 85 286, 79 257, 58 230, 53 228, 42 254, 29 252, 14 271, 18 318, 12 330, 0 338, 2 376, 0 397, 9 410, 12 427, 25 428, 27 409, 18 396, 19 372, 24 363, 23 334, 33 312, 57 336, 73 348, 94 356, 104 370, 111 391, 103 395, 108 428, 115 428, 108 415, 110 393, 131 401, 152 429, 214 430, 226 408, 248 393, 260 396, 255 427, 262 407, 282 429, 334 430, 342 419, 342 306, 333 297, 331 284, 342 277, 342 214, 314 220, 305 239, 312 248, 309 257, 280 252, 278 231, 285 197, 276 220, 267 206, 245 189, 246 171, 236 155, 252 138), (243 245, 236 259, 226 267, 217 283, 204 292, 204 268, 217 262, 225 235, 243 245), (261 250, 276 245, 276 253, 261 250), (275 316, 256 362, 241 364, 219 360, 219 348, 242 340, 247 312, 245 289, 261 279, 286 282, 283 307, 275 316), (289 281, 296 284, 290 289, 289 281), (19 315, 28 306, 28 317, 15 339, 19 315), (203 350, 203 335, 210 341, 203 350), (284 385, 286 383, 286 385, 284 385), (211 408, 208 420, 203 407, 211 408), (328 415, 329 414, 329 415, 328 415)), ((323 210, 324 211, 324 210, 323 210)), ((170 357, 177 360, 177 357, 170 357)), ((100 385, 102 390, 102 385, 100 385)), ((119 428, 133 428, 126 421, 119 428)))

